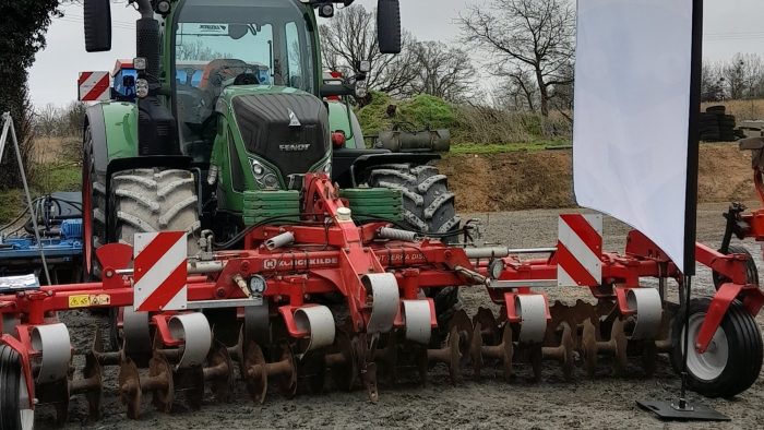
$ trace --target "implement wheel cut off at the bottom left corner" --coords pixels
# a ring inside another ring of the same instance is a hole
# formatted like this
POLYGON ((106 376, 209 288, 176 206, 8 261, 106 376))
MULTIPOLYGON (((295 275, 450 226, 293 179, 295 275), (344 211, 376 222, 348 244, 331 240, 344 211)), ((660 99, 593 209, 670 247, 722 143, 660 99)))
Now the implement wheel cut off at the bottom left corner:
POLYGON ((21 356, 10 346, 0 345, 0 429, 31 430, 34 414, 29 409, 21 356))

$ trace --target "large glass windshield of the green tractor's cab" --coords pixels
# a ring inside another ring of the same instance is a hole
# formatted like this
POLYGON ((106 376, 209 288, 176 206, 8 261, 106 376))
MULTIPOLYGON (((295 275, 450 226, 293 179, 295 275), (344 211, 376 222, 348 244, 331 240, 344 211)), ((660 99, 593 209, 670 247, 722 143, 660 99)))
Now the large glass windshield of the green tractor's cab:
POLYGON ((297 0, 186 0, 175 29, 176 109, 183 144, 214 134, 215 101, 229 85, 315 93, 312 26, 297 0))

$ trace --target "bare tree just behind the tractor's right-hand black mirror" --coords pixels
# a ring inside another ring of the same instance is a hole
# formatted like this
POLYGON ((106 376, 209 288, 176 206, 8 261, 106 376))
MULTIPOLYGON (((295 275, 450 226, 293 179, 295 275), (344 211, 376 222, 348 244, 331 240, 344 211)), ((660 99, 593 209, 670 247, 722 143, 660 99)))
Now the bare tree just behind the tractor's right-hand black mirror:
POLYGON ((415 53, 410 49, 410 33, 403 33, 401 53, 391 56, 380 52, 374 11, 367 11, 361 5, 341 9, 327 24, 321 26, 320 32, 323 65, 345 74, 355 74, 359 72, 359 61, 369 61, 371 72, 367 75, 367 85, 370 89, 402 94, 417 79, 417 70, 411 67, 415 53))

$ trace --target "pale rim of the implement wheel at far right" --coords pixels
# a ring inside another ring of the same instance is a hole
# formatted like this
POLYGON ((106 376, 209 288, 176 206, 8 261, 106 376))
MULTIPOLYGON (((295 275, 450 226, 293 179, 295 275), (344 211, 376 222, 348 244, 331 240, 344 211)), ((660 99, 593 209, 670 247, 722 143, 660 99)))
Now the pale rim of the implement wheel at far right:
MULTIPOLYGON (((701 331, 704 319, 705 313, 690 315, 690 344, 693 344, 694 339, 697 338, 697 333, 701 331)), ((680 342, 684 342, 684 331, 682 331, 680 342)), ((684 350, 684 345, 682 345, 682 350, 684 350)), ((721 375, 721 372, 727 367, 728 358, 729 344, 727 335, 721 327, 718 327, 705 353, 701 354, 694 347, 690 348, 688 371, 700 380, 712 381, 721 375)))

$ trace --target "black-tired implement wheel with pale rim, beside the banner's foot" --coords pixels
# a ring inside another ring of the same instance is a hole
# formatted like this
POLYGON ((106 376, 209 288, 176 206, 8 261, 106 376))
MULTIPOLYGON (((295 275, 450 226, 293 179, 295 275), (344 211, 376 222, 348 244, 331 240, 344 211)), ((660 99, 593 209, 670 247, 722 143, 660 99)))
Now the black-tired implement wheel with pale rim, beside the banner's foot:
MULTIPOLYGON (((690 344, 701 330, 711 300, 690 302, 690 344)), ((684 315, 675 319, 671 360, 675 369, 682 369, 684 349, 684 315)), ((704 354, 690 347, 688 355, 689 385, 708 397, 732 397, 748 390, 762 369, 762 335, 756 321, 739 301, 730 304, 719 329, 704 354)))

